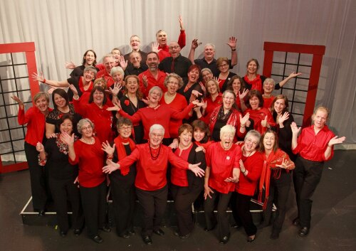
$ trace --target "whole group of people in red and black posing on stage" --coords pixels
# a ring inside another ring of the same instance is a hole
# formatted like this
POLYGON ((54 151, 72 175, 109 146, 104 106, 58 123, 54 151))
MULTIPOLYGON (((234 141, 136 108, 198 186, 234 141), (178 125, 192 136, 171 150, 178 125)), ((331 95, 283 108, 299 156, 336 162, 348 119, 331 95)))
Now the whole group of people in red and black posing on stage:
POLYGON ((313 125, 301 130, 288 111, 286 95, 272 95, 300 73, 276 84, 258 75, 256 59, 248 60, 243 78, 231 73, 237 64, 234 37, 227 43, 230 60, 216 60, 211 43, 204 47, 204 58, 194 59, 197 39, 185 58, 180 54, 185 46, 180 17, 179 24, 178 42, 167 45, 167 33, 159 30, 149 53, 140 50, 140 38, 134 35, 132 52, 125 56, 114 48, 97 64, 95 51, 87 50, 82 65, 67 63, 74 68, 67 80, 46 80, 35 73, 35 80, 53 87, 53 109, 46 92, 38 92, 26 112, 19 97, 12 97, 19 103, 19 124, 27 124, 34 210, 45 214, 48 183, 61 236, 68 233, 70 201, 74 234, 80 235, 85 225, 88 237, 100 243, 100 231, 111 231, 105 217, 110 186, 117 235, 135 235, 137 198, 143 209, 142 240, 151 245, 153 233, 164 235, 160 225, 168 193, 177 211, 175 235, 182 239, 194 230, 192 203, 201 198, 204 230, 217 226, 219 242, 225 244, 230 238, 228 207, 247 241, 255 240, 250 201, 258 196, 263 203, 258 228, 271 225, 276 203, 271 239, 277 239, 293 173, 298 205, 293 225, 300 227, 298 235, 308 235, 311 197, 323 163, 333 157, 333 145, 345 140, 328 129, 328 109, 318 107, 313 125))

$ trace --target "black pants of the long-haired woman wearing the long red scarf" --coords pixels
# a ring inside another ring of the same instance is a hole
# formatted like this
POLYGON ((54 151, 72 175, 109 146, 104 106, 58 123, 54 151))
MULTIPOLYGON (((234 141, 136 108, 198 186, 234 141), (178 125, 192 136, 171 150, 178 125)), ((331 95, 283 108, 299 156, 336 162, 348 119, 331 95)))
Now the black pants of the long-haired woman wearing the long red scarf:
POLYGON ((284 218, 286 217, 286 204, 290 191, 290 183, 290 173, 287 173, 285 170, 281 170, 281 176, 278 179, 273 178, 271 174, 268 201, 266 209, 263 210, 263 224, 268 225, 270 223, 273 201, 275 201, 277 210, 276 219, 273 223, 273 231, 278 233, 281 232, 284 218))

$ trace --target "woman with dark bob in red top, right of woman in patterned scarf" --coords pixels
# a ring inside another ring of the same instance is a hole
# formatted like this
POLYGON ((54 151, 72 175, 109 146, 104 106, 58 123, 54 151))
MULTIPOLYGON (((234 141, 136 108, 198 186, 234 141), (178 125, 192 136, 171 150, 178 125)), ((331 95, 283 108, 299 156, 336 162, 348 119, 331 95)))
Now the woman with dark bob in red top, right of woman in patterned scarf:
POLYGON ((276 123, 273 120, 271 112, 263 107, 263 97, 258 90, 251 90, 247 95, 248 103, 245 114, 250 114, 253 120, 253 129, 260 134, 266 132, 266 129, 274 127, 276 123))

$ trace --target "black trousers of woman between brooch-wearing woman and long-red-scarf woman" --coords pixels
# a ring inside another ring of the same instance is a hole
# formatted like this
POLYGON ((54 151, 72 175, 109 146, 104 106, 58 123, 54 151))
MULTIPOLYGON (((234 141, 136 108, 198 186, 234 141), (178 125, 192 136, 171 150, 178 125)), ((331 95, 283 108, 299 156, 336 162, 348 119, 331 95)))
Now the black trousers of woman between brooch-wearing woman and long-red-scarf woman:
POLYGON ((237 225, 243 225, 248 236, 256 235, 257 228, 253 224, 252 215, 250 212, 250 201, 252 196, 246 196, 241 193, 236 193, 236 212, 238 218, 235 218, 237 225))

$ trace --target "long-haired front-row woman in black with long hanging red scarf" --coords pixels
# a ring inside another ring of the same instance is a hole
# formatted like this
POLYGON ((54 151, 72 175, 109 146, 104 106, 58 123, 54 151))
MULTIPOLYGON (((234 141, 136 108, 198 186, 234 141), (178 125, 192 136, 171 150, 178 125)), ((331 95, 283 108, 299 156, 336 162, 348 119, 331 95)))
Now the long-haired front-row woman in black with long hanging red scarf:
POLYGON ((260 179, 261 201, 262 189, 266 190, 266 198, 263 203, 263 223, 258 228, 265 228, 270 224, 273 201, 276 202, 276 219, 273 223, 270 238, 276 240, 281 232, 286 216, 286 204, 290 189, 290 170, 294 169, 294 163, 288 154, 278 148, 276 132, 267 130, 262 136, 261 152, 263 155, 263 171, 260 179))

